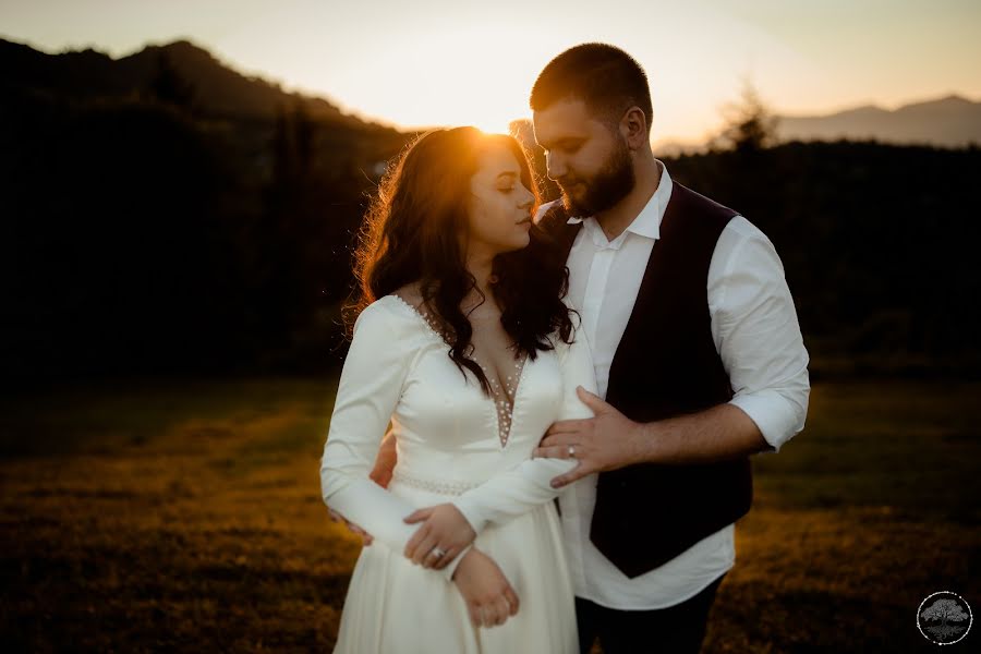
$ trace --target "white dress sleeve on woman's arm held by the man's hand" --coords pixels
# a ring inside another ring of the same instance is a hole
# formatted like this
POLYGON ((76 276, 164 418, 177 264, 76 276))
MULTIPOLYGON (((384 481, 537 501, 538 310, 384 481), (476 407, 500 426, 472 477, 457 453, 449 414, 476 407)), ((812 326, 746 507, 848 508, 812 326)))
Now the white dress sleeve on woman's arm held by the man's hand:
MULTIPOLYGON (((558 338, 556 341, 562 378, 561 409, 557 420, 593 417, 593 411, 576 393, 577 386, 596 392, 596 377, 585 331, 577 329, 571 344, 558 338)), ((577 464, 574 459, 529 459, 463 493, 453 505, 480 533, 491 522, 514 518, 557 497, 562 489, 553 488, 549 482, 577 464)))

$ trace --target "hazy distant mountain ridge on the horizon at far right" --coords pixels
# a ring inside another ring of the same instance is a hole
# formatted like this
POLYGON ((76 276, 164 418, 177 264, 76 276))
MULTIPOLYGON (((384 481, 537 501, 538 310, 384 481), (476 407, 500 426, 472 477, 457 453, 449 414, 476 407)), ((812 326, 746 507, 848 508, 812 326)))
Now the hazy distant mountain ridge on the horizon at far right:
POLYGON ((782 141, 874 140, 965 147, 981 144, 981 102, 958 95, 888 110, 867 105, 826 116, 780 116, 782 141))

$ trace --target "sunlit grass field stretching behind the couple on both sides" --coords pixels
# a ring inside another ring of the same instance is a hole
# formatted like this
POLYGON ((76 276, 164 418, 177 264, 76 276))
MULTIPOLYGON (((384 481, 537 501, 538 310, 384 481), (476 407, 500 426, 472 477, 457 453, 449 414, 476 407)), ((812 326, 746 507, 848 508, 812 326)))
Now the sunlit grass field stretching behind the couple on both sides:
MULTIPOLYGON (((3 399, 4 652, 329 652, 360 548, 319 497, 334 384, 3 399)), ((935 651, 927 595, 981 608, 979 399, 981 383, 816 384, 806 431, 754 459, 704 651, 935 651)))

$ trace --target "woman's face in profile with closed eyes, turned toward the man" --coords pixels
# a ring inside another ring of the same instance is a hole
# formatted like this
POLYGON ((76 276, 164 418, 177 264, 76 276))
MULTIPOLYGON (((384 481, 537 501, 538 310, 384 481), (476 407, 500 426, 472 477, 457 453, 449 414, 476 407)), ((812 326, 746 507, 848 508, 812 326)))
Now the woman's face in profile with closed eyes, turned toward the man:
POLYGON ((535 197, 521 181, 521 165, 502 144, 491 145, 470 179, 468 252, 500 254, 529 243, 535 197))

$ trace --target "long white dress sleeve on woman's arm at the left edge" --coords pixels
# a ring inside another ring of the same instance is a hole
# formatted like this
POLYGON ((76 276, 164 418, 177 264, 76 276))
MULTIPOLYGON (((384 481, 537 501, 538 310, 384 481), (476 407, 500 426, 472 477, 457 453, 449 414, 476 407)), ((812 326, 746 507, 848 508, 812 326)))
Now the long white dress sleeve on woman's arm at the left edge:
POLYGON ((330 508, 401 552, 420 526, 402 519, 417 507, 368 479, 412 354, 398 328, 377 303, 358 316, 320 459, 320 489, 330 508))

